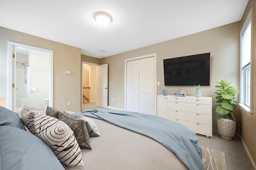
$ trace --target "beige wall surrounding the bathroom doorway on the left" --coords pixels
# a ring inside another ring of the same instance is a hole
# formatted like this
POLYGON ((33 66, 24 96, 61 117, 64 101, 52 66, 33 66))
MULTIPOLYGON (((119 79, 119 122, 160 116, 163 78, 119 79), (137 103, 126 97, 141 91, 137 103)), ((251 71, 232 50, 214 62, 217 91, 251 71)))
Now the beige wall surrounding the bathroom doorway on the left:
MULTIPOLYGON (((8 101, 8 41, 53 52, 53 106, 60 111, 80 111, 81 49, 0 27, 0 96, 8 101), (65 70, 71 74, 65 74, 65 70), (68 106, 68 102, 71 105, 68 106)), ((7 105, 7 104, 6 104, 7 105)))

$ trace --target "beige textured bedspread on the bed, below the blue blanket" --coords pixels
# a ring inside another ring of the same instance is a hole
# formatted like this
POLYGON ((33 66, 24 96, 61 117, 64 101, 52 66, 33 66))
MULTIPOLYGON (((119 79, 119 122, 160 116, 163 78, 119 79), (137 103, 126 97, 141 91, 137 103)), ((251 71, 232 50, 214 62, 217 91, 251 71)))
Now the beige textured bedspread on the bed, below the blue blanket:
POLYGON ((80 147, 84 167, 66 170, 187 170, 169 149, 144 135, 100 119, 92 119, 100 137, 90 137, 92 150, 80 147))

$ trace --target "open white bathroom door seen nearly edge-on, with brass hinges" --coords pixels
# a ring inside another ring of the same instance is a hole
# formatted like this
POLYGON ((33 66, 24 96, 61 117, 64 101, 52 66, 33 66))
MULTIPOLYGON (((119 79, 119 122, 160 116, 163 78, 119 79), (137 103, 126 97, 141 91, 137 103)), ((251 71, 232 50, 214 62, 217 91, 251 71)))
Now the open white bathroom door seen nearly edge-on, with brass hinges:
POLYGON ((16 48, 12 46, 12 111, 16 110, 16 48))

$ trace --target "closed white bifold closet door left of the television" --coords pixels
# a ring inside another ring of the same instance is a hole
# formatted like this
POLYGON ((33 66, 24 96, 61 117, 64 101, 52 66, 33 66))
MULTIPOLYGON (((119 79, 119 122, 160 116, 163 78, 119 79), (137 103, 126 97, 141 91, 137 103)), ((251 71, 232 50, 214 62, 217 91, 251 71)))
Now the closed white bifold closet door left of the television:
POLYGON ((127 62, 126 110, 154 115, 154 57, 127 62))

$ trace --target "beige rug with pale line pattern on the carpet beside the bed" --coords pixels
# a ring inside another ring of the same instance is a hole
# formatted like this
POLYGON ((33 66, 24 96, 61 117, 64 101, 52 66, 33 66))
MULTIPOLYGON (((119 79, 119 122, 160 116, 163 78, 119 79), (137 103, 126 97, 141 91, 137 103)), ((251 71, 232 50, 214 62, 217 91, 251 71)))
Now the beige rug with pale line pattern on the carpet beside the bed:
POLYGON ((206 159, 204 168, 206 170, 227 170, 224 152, 201 146, 203 149, 203 159, 206 159))

